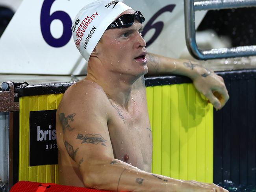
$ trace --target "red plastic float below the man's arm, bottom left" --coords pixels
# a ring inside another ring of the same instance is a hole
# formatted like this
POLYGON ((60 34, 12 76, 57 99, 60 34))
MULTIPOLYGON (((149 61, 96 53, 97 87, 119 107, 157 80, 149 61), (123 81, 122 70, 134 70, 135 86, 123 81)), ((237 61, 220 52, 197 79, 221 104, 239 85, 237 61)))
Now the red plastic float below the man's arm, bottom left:
MULTIPOLYGON (((36 192, 39 186, 43 183, 36 183, 31 181, 20 181, 16 183, 10 190, 10 192, 36 192)), ((66 186, 52 184, 46 188, 45 192, 110 192, 96 189, 88 189, 77 186, 66 186)))

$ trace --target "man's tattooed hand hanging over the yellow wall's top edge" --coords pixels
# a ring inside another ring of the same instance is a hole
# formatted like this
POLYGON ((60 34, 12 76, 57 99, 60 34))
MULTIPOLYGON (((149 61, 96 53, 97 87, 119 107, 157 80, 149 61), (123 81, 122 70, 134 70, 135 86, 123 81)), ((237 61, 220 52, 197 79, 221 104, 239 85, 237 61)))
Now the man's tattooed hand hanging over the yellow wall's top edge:
POLYGON ((229 99, 224 80, 216 75, 212 70, 201 65, 189 62, 183 63, 186 68, 191 68, 195 72, 191 73, 195 88, 202 93, 213 104, 215 109, 221 109, 229 99))

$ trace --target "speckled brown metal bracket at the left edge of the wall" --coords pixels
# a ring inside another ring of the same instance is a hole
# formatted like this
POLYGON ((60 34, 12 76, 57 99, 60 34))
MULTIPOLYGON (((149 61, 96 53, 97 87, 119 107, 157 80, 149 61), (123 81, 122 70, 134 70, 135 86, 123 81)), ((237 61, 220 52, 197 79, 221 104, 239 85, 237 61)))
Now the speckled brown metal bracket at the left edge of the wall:
POLYGON ((11 81, 6 83, 9 85, 9 91, 0 90, 0 111, 19 111, 19 102, 14 102, 14 97, 18 96, 14 93, 14 85, 11 81))

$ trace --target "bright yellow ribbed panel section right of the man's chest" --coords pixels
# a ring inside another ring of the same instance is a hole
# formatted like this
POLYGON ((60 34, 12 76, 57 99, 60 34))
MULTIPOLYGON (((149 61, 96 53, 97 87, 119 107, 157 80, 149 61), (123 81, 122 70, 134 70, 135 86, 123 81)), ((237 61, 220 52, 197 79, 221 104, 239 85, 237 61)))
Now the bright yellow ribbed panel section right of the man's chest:
POLYGON ((213 107, 192 84, 147 87, 152 172, 213 182, 213 107))

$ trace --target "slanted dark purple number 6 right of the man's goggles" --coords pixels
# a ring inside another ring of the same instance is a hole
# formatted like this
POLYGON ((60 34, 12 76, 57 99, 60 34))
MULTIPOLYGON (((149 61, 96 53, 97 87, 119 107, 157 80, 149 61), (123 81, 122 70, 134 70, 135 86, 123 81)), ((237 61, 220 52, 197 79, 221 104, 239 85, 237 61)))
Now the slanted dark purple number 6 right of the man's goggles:
POLYGON ((172 12, 174 7, 176 5, 171 4, 168 6, 163 7, 162 9, 160 9, 145 25, 144 30, 142 31, 142 37, 145 36, 145 34, 151 30, 151 29, 155 29, 155 33, 154 35, 151 37, 151 39, 147 42, 147 46, 150 46, 160 35, 161 31, 163 30, 163 22, 159 21, 156 22, 155 24, 152 24, 154 22, 154 20, 156 20, 156 18, 158 18, 162 13, 165 13, 167 11, 172 12))

